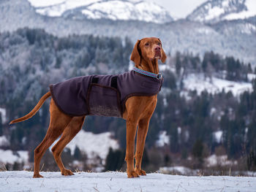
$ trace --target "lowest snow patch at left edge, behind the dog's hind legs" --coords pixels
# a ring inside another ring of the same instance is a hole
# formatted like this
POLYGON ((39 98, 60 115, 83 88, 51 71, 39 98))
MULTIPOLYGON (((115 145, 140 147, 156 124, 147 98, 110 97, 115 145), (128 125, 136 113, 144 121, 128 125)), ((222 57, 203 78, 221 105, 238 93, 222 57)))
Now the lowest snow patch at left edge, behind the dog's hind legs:
POLYGON ((14 164, 15 162, 24 162, 25 164, 29 162, 29 152, 26 150, 18 150, 17 152, 13 152, 12 150, 0 149, 0 163, 14 164))

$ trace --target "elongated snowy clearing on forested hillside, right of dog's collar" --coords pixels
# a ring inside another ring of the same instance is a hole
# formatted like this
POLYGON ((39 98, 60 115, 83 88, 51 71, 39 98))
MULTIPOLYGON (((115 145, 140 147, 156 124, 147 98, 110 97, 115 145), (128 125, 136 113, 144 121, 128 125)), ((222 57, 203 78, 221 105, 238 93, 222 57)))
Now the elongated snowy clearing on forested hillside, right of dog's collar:
POLYGON ((252 83, 250 82, 233 82, 222 80, 217 77, 204 78, 203 74, 189 74, 184 79, 185 90, 196 90, 197 93, 207 91, 208 93, 219 93, 222 89, 225 92, 231 91, 235 96, 238 96, 244 91, 252 91, 252 83))

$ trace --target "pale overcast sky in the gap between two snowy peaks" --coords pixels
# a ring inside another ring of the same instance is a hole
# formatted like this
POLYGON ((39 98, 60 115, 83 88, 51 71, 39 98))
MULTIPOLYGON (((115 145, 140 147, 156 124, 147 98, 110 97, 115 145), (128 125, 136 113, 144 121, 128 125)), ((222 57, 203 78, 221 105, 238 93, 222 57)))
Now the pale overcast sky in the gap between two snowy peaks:
MULTIPOLYGON (((153 1, 165 7, 170 14, 176 18, 185 18, 192 12, 197 6, 202 4, 207 0, 146 0, 146 1, 153 1)), ((256 0, 255 0, 256 1, 256 0)))

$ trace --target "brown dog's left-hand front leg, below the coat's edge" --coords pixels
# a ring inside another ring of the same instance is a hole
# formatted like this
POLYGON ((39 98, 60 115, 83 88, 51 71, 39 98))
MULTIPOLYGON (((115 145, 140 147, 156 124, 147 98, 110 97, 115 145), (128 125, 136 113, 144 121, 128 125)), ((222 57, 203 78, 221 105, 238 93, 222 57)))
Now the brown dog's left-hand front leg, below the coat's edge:
POLYGON ((139 177, 134 169, 134 150, 135 150, 135 134, 138 122, 133 118, 127 118, 127 151, 125 161, 127 161, 128 177, 139 177))

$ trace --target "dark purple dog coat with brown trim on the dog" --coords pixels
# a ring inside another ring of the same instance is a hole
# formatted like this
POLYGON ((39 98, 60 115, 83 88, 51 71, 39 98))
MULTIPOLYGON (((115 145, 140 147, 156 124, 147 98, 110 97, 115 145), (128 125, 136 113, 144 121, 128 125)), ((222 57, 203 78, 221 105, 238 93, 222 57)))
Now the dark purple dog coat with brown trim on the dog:
POLYGON ((50 85, 59 109, 67 115, 100 115, 121 118, 124 104, 131 96, 154 96, 163 79, 132 70, 116 75, 75 77, 50 85))

